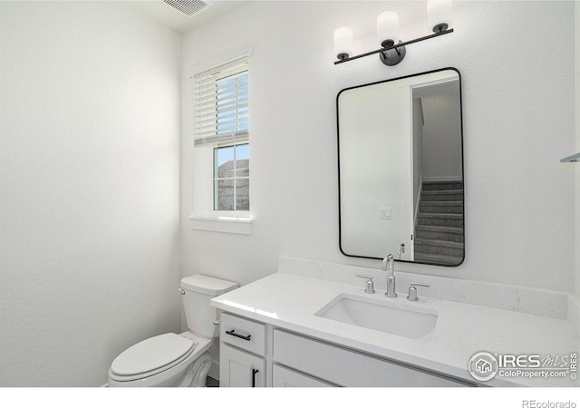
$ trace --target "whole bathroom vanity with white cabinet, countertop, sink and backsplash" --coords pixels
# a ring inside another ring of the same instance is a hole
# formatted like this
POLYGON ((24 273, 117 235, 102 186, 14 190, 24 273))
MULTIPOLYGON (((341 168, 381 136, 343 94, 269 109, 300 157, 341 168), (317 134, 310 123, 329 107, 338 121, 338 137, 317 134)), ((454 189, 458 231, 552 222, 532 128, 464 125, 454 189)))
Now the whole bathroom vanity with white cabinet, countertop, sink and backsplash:
MULTIPOLYGON (((543 304, 527 306, 527 289, 490 287, 519 296, 517 306, 497 298, 490 301, 498 307, 483 306, 433 296, 438 291, 432 287, 455 279, 398 275, 399 296, 389 299, 380 270, 296 261, 212 299, 222 312, 220 386, 580 385, 575 375, 477 381, 468 369, 479 352, 577 354, 577 304, 566 294, 531 293, 543 304), (364 280, 356 277, 370 273, 377 280, 374 294, 365 293, 364 280), (418 287, 416 302, 407 300, 410 279, 431 284, 418 287)), ((469 293, 464 300, 471 300, 469 293)))

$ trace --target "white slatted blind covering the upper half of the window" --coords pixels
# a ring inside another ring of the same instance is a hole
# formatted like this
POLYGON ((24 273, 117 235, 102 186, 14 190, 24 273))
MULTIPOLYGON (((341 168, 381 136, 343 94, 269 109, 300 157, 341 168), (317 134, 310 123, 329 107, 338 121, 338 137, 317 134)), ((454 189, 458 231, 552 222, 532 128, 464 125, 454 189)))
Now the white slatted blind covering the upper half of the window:
POLYGON ((249 71, 244 57, 194 76, 194 145, 244 141, 249 135, 249 71))

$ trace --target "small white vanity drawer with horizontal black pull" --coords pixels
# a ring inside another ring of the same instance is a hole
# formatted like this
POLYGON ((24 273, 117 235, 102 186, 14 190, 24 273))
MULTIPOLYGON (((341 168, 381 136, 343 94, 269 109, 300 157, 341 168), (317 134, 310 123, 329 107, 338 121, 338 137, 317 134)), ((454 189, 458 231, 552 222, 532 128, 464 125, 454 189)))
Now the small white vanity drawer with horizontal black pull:
POLYGON ((250 353, 266 354, 266 325, 262 323, 222 313, 219 338, 222 343, 235 345, 250 353))

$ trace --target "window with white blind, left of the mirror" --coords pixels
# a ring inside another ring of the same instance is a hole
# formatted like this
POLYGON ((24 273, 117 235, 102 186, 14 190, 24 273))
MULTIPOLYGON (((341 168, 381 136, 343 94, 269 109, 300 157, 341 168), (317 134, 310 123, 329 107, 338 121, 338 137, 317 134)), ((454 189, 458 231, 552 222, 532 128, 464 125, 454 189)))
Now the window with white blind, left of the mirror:
MULTIPOLYGON (((206 195, 197 218, 249 219, 249 67, 238 58, 193 76, 196 115, 194 156, 206 151, 207 181, 196 182, 194 195, 206 195), (196 153, 197 152, 197 153, 196 153), (206 191, 200 191, 206 189, 206 191), (202 209, 205 208, 205 209, 202 209)), ((198 176, 197 176, 198 177, 198 176)), ((194 186, 195 187, 195 186, 194 186)), ((195 203, 199 199, 194 199, 195 203)), ((194 217, 195 218, 195 217, 194 217)))

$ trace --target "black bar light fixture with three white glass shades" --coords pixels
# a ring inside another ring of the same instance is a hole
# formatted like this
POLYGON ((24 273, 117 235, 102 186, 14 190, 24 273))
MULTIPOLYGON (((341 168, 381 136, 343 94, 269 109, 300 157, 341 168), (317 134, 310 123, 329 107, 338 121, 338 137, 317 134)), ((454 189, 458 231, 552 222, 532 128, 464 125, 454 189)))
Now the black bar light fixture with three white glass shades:
POLYGON ((337 28, 334 30, 334 55, 338 61, 334 64, 346 63, 375 53, 379 54, 385 65, 392 66, 401 63, 407 53, 405 45, 453 33, 453 29, 449 28, 452 14, 451 0, 428 0, 427 21, 430 34, 402 42, 399 38, 399 15, 393 11, 383 12, 377 17, 377 39, 381 48, 360 55, 353 55, 353 30, 350 27, 337 28))

